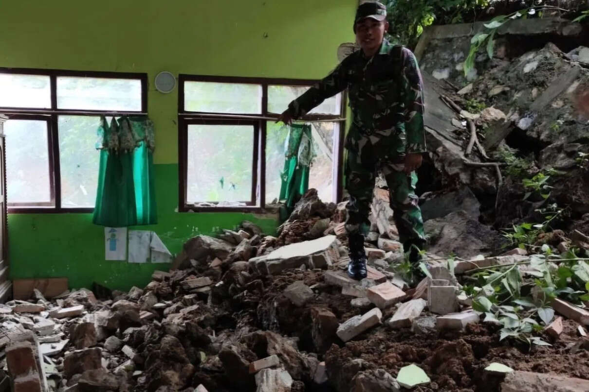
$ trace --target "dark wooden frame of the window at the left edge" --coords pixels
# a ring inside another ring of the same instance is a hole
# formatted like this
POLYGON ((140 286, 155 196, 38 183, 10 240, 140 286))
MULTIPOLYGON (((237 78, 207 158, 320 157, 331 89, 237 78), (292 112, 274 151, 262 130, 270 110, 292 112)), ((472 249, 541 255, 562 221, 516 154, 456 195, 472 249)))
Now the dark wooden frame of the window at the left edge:
MULTIPOLYGON (((15 108, 0 106, 0 114, 8 116, 9 120, 35 119, 48 122, 48 148, 49 148, 49 192, 51 206, 26 203, 19 206, 18 203, 7 203, 8 213, 92 213, 94 207, 67 208, 61 206, 61 172, 59 167, 59 115, 72 116, 124 116, 147 115, 147 73, 137 72, 102 72, 102 71, 71 71, 62 69, 38 69, 38 68, 1 68, 0 74, 12 75, 39 75, 49 76, 49 92, 51 94, 51 108, 15 108), (139 79, 141 81, 141 110, 117 111, 117 110, 81 110, 57 108, 57 78, 59 76, 73 76, 80 78, 104 78, 104 79, 139 79)), ((6 153, 6 152, 5 152, 6 153)), ((98 153, 98 152, 97 152, 98 153)), ((45 203, 40 203, 45 204, 45 203)))

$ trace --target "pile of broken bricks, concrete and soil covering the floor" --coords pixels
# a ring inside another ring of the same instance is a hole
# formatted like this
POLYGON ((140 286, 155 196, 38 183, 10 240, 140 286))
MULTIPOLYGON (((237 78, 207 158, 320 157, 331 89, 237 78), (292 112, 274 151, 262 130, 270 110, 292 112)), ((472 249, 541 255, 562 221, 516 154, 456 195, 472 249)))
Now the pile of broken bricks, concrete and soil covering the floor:
POLYGON ((375 214, 368 277, 358 282, 345 273, 343 205, 317 200, 313 190, 303 197, 278 237, 243 222, 188 240, 178 269, 155 272, 144 289, 101 300, 85 289, 51 300, 36 291, 0 306, 14 390, 589 390, 589 340, 577 337, 588 311, 554 300, 567 320, 546 328, 554 346, 530 354, 505 350, 498 327, 459 292, 463 274, 525 264, 521 250, 453 268, 426 254, 431 276, 409 288, 395 269, 394 225, 375 214), (550 361, 575 367, 541 365, 550 361))

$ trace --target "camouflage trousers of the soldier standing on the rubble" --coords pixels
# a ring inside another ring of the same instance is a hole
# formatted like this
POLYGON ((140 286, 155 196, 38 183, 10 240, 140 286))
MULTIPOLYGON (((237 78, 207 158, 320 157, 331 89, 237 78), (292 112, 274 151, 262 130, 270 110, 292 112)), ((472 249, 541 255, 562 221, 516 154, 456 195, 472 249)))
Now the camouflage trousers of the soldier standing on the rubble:
POLYGON ((412 244, 421 249, 425 243, 425 234, 418 206, 419 197, 415 195, 417 175, 415 172, 403 172, 403 156, 379 159, 370 147, 364 146, 360 153, 348 151, 345 173, 346 189, 350 199, 346 205, 346 232, 350 238, 368 233, 370 203, 376 175, 381 172, 389 187, 389 199, 393 219, 399 230, 399 240, 403 243, 405 251, 408 251, 412 244))

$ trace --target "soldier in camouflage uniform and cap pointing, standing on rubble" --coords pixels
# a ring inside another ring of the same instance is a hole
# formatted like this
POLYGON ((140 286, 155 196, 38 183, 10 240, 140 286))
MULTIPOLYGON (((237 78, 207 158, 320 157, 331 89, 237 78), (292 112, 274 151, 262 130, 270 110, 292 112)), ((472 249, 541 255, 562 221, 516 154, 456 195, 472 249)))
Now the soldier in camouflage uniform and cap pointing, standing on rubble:
POLYGON ((361 46, 316 86, 290 103, 280 120, 291 123, 323 102, 348 89, 352 124, 345 147, 345 175, 350 200, 346 209, 350 264, 348 274, 366 277, 364 234, 368 232, 370 202, 376 174, 385 176, 390 189, 393 218, 410 260, 419 259, 423 246, 423 222, 417 175, 425 152, 421 73, 415 56, 401 45, 391 45, 383 35, 388 29, 386 8, 379 2, 358 7, 354 23, 361 46))

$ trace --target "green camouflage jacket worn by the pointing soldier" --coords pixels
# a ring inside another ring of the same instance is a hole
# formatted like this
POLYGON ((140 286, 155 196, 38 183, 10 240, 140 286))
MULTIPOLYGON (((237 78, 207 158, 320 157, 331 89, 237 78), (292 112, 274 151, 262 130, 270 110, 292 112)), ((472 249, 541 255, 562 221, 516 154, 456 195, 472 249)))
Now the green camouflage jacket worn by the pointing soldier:
POLYGON ((415 56, 401 45, 383 41, 372 58, 356 51, 289 105, 294 119, 324 99, 348 89, 352 124, 346 148, 379 146, 379 158, 425 152, 423 82, 415 56), (382 151, 382 153, 380 153, 382 151))

